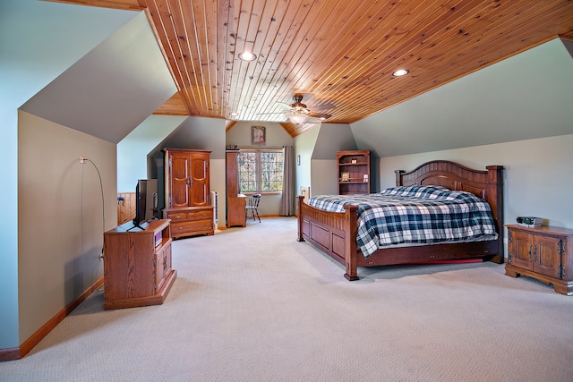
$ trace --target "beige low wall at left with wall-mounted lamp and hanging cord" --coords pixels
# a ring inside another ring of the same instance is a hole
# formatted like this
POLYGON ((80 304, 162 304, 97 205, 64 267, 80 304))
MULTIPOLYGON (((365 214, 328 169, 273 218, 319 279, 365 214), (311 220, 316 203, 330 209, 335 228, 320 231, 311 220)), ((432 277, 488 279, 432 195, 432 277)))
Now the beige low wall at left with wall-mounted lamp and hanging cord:
POLYGON ((18 140, 23 343, 103 276, 103 233, 117 221, 116 162, 114 143, 25 112, 18 140))

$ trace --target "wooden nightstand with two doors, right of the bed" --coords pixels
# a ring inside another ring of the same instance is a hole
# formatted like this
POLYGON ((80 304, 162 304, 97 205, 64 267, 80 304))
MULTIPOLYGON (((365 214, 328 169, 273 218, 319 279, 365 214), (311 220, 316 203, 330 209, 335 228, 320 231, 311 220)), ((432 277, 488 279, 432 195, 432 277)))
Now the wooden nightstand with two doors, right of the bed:
POLYGON ((557 293, 573 294, 573 230, 507 225, 508 264, 505 274, 529 276, 553 284, 557 293))

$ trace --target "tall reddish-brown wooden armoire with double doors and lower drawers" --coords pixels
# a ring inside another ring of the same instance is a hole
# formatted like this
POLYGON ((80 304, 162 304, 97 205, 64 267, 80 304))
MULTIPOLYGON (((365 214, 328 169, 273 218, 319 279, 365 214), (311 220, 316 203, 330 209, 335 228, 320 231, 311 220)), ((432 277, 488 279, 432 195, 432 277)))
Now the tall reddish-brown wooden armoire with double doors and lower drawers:
POLYGON ((165 206, 171 219, 171 236, 179 238, 213 234, 210 200, 210 153, 196 149, 164 149, 165 206))

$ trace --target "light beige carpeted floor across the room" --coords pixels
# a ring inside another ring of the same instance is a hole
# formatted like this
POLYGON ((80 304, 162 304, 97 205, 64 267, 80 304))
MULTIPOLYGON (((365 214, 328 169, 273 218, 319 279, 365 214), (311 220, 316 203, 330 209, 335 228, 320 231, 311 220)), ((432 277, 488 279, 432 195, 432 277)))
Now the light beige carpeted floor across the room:
POLYGON ((174 242, 165 304, 103 292, 2 381, 571 381, 573 297, 493 263, 359 268, 295 218, 174 242))

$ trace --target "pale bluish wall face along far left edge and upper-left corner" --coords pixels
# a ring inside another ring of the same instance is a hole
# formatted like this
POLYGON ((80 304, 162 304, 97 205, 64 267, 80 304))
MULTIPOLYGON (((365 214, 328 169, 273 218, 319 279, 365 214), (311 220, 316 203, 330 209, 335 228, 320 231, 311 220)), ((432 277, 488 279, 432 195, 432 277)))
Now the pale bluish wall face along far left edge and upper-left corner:
MULTIPOLYGON (((137 13, 37 0, 0 2, 0 348, 20 344, 18 315, 18 107, 137 13)), ((75 155, 75 154, 74 154, 75 155)), ((49 221, 50 216, 39 216, 49 221)), ((33 240, 33 233, 30 239, 33 240)), ((37 254, 38 257, 42 253, 37 254)), ((28 314, 33 314, 28 312, 28 314)))

